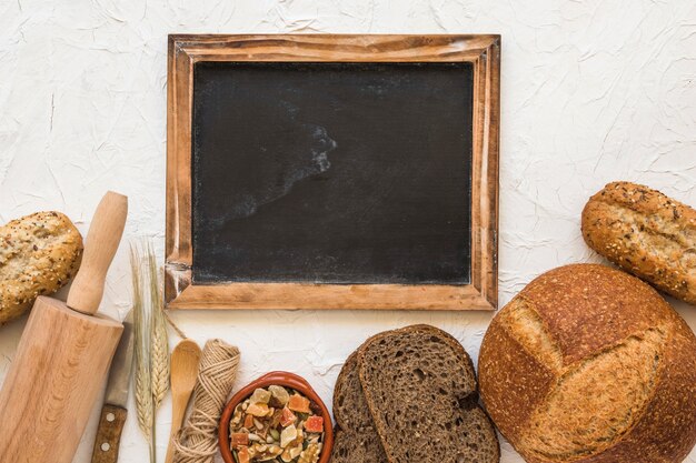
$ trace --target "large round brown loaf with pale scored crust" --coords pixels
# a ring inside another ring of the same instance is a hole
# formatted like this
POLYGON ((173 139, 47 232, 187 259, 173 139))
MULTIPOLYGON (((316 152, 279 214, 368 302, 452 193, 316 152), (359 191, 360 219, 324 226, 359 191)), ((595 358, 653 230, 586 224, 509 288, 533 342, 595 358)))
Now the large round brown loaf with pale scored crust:
POLYGON ((678 463, 696 443, 696 336, 653 288, 604 265, 529 283, 491 322, 479 381, 531 463, 678 463))

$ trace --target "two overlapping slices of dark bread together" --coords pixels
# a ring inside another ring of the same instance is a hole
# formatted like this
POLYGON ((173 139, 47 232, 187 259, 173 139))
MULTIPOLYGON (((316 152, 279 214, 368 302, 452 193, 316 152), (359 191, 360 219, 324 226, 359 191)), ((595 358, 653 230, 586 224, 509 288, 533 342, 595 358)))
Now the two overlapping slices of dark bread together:
POLYGON ((334 393, 331 463, 494 463, 500 449, 478 405, 461 344, 429 325, 377 334, 351 354, 334 393))

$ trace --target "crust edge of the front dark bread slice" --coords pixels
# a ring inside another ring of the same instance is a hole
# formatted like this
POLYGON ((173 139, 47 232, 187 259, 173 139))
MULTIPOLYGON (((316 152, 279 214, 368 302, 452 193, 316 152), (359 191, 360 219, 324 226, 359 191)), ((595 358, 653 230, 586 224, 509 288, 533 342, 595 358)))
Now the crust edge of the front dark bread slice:
MULTIPOLYGON (((389 461, 389 463, 401 463, 397 460, 397 457, 395 456, 395 452, 394 449, 390 445, 390 442, 388 439, 386 439, 386 436, 390 433, 389 426, 386 425, 386 423, 384 422, 380 413, 381 410, 380 407, 377 405, 377 397, 371 393, 370 391, 370 378, 369 378, 369 373, 367 371, 367 362, 369 362, 369 360, 366 359, 367 356, 367 352, 370 349, 370 345, 372 344, 377 344, 379 343, 382 339, 387 339, 394 335, 399 335, 400 333, 410 333, 410 332, 424 332, 424 333, 430 333, 432 335, 437 335, 440 336, 445 343, 447 345, 449 345, 456 353, 457 356, 460 358, 461 360, 464 360, 464 369, 466 371, 466 376, 470 376, 471 381, 470 381, 470 387, 468 391, 466 391, 466 396, 464 397, 459 397, 461 401, 466 401, 467 402, 467 406, 470 407, 470 412, 471 412, 471 416, 476 416, 473 417, 473 420, 478 420, 478 425, 481 425, 481 429, 479 430, 479 432, 483 434, 488 434, 488 439, 494 442, 494 447, 493 447, 493 455, 488 455, 488 460, 481 460, 481 461, 495 461, 495 462, 499 462, 500 460, 500 446, 499 446, 499 442, 495 432, 495 427, 493 425, 493 422, 490 421, 490 417, 486 414, 486 412, 478 405, 477 399, 478 399, 478 385, 477 385, 477 381, 476 381, 476 371, 474 369, 474 362, 471 361, 471 358, 468 355, 468 353, 466 352, 466 350, 464 349, 464 346, 461 346, 461 344, 455 339, 453 338, 450 334, 435 328, 435 326, 430 326, 430 325, 426 325, 426 324, 417 324, 417 325, 410 325, 410 326, 406 326, 399 330, 394 330, 394 331, 386 331, 386 332, 381 332, 378 333, 371 338, 369 338, 358 350, 358 364, 359 364, 359 375, 360 375, 360 382, 362 384, 362 389, 364 389, 364 393, 365 393, 365 397, 367 400, 367 404, 369 407, 369 411, 375 420, 375 426, 377 429, 377 432, 379 433, 379 435, 381 436, 381 443, 382 446, 385 449, 385 453, 387 455, 387 460, 389 461)), ((483 450, 481 450, 483 452, 483 450)), ((454 460, 453 460, 454 461, 454 460)))

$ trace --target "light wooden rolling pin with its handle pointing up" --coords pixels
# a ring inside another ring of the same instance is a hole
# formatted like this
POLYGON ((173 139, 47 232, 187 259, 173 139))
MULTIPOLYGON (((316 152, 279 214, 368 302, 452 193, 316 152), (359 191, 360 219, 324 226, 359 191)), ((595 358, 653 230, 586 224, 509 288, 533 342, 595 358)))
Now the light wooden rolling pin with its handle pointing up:
POLYGON ((108 192, 87 234, 68 303, 41 296, 0 391, 0 463, 70 463, 123 331, 95 315, 128 199, 108 192))

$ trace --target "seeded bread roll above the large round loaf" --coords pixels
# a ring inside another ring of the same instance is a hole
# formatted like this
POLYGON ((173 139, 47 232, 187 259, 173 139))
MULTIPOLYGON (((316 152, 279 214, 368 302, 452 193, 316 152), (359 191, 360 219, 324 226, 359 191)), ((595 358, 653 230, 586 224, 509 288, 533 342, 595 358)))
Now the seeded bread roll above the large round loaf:
POLYGON ((658 290, 696 304, 696 211, 659 191, 607 184, 583 211, 587 244, 658 290))

